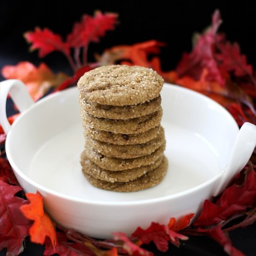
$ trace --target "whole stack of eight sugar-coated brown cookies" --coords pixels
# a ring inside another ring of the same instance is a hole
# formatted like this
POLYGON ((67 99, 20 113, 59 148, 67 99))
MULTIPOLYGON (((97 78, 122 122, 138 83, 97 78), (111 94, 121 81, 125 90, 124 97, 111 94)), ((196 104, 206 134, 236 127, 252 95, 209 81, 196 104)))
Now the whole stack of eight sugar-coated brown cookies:
POLYGON ((86 139, 81 166, 92 185, 131 192, 162 181, 167 171, 162 85, 155 71, 138 66, 99 67, 81 77, 86 139))

